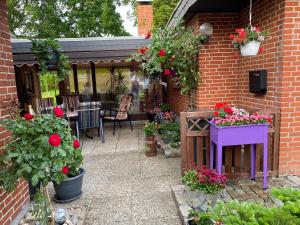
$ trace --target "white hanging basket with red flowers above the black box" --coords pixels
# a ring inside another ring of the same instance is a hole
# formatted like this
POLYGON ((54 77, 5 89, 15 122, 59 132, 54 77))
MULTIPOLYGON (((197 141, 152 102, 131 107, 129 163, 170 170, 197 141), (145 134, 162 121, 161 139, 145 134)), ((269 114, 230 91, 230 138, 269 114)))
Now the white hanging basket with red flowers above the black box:
POLYGON ((234 34, 230 34, 233 46, 240 48, 242 56, 255 56, 262 51, 260 44, 267 39, 267 32, 261 31, 257 27, 251 25, 246 28, 235 30, 234 34))

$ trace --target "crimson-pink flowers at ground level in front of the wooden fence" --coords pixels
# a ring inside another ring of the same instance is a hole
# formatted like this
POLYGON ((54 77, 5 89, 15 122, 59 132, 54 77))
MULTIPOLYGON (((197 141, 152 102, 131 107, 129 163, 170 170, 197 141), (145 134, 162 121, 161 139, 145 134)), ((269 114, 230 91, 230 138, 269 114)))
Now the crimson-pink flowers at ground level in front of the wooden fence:
POLYGON ((194 166, 184 173, 182 182, 195 192, 198 203, 195 208, 206 211, 208 206, 213 207, 220 199, 220 191, 225 188, 227 178, 205 166, 194 166))

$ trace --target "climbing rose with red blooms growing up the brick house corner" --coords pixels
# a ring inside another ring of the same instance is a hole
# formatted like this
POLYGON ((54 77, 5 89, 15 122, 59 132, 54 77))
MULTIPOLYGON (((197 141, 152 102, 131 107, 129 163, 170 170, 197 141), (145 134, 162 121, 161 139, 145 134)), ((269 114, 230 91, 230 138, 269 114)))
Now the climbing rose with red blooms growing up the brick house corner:
POLYGON ((181 93, 188 95, 189 107, 193 108, 199 80, 199 44, 202 40, 202 34, 195 33, 182 23, 157 29, 152 34, 151 44, 140 48, 130 61, 138 62, 152 80, 171 76, 181 93))

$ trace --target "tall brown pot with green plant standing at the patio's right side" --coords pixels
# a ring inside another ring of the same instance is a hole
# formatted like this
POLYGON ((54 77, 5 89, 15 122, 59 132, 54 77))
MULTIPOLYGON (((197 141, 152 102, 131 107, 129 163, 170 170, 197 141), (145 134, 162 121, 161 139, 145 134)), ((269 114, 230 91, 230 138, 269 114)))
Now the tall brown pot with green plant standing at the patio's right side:
POLYGON ((146 156, 152 157, 157 155, 156 151, 156 124, 154 122, 147 122, 144 128, 144 133, 146 136, 145 148, 146 156))

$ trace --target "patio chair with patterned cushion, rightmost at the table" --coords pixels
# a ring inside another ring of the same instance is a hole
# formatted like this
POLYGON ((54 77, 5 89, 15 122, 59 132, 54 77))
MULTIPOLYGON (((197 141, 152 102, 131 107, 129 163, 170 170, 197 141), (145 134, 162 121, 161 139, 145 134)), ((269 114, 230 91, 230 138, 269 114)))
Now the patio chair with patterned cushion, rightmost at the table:
POLYGON ((120 128, 122 128, 121 121, 129 121, 130 128, 131 128, 131 130, 133 130, 132 124, 131 124, 131 117, 130 117, 130 114, 129 114, 129 110, 130 110, 130 107, 132 105, 132 100, 133 100, 133 95, 132 94, 124 95, 121 99, 119 109, 114 110, 115 115, 113 115, 113 116, 104 116, 104 120, 109 120, 109 121, 114 122, 113 135, 115 135, 116 121, 119 122, 120 128))

